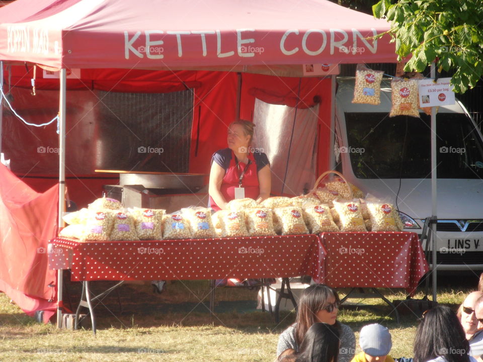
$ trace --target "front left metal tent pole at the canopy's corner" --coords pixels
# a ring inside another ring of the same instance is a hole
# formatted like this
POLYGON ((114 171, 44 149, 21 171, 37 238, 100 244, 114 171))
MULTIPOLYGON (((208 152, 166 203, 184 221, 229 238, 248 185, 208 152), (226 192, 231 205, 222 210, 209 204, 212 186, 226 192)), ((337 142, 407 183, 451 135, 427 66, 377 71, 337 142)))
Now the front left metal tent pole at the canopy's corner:
MULTIPOLYGON (((60 96, 59 96, 59 219, 58 226, 62 226, 62 216, 65 205, 65 91, 66 72, 60 69, 60 96)), ((57 327, 62 325, 62 290, 63 290, 62 269, 57 270, 57 327)))

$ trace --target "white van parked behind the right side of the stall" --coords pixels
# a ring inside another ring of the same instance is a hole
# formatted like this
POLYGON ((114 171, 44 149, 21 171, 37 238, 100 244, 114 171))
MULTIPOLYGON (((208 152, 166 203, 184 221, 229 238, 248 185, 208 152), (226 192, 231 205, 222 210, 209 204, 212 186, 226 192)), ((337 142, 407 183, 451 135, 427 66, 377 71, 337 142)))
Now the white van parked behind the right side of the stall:
MULTIPOLYGON (((338 78, 338 170, 365 193, 397 200, 405 231, 431 217, 431 117, 389 117, 390 81, 381 104, 353 104, 354 78, 338 78)), ((483 269, 483 137, 461 103, 437 114, 438 270, 483 269)), ((424 245, 425 246, 425 245, 424 245)))

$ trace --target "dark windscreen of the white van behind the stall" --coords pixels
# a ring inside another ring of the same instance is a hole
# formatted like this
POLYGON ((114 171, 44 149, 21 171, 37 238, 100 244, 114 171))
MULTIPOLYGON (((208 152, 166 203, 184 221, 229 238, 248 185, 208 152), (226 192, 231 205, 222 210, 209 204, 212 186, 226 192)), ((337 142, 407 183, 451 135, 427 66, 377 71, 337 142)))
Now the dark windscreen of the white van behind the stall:
MULTIPOLYGON (((431 178, 431 117, 346 113, 348 151, 358 178, 431 178)), ((438 178, 483 178, 483 146, 464 114, 438 113, 438 178)))

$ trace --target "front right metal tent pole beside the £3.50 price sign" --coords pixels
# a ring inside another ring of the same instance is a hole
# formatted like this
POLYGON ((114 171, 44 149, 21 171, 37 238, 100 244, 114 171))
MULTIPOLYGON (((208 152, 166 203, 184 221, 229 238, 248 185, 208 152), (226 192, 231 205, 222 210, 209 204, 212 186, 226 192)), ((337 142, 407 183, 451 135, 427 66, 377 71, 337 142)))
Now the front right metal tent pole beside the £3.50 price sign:
MULTIPOLYGON (((431 63, 431 78, 435 79, 436 77, 436 65, 435 63, 431 63)), ((431 200, 432 200, 432 223, 431 223, 431 238, 433 242, 433 257, 432 257, 432 264, 433 264, 433 301, 437 301, 437 260, 436 260, 436 245, 437 245, 437 237, 436 237, 436 223, 438 220, 437 217, 437 172, 436 172, 436 107, 431 107, 431 200)))

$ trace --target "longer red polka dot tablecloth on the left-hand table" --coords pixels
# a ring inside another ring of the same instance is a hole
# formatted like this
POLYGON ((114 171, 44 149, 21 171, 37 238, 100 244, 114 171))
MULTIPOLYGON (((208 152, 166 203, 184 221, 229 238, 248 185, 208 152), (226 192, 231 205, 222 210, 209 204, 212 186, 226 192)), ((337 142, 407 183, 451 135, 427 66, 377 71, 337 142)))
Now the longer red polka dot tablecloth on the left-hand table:
POLYGON ((158 241, 79 242, 55 238, 51 265, 68 266, 74 281, 323 277, 318 235, 158 241))

